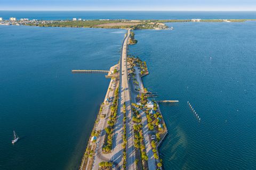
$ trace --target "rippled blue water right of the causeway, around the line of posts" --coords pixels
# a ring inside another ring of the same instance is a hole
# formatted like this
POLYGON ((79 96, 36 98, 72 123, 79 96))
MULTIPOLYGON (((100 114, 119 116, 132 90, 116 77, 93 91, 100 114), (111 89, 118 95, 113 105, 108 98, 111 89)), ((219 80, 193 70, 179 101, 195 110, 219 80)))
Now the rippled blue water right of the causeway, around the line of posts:
POLYGON ((168 23, 136 30, 130 54, 145 60, 169 134, 165 169, 256 169, 256 22, 168 23), (199 122, 187 101, 201 117, 199 122))

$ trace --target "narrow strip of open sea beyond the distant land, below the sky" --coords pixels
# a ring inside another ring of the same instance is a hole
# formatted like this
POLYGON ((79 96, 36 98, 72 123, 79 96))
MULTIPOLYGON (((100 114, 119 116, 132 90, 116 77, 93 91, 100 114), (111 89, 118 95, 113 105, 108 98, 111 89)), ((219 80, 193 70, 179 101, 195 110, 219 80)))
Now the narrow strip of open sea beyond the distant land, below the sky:
POLYGON ((71 20, 94 19, 256 19, 256 11, 220 12, 220 11, 0 11, 0 17, 71 20))

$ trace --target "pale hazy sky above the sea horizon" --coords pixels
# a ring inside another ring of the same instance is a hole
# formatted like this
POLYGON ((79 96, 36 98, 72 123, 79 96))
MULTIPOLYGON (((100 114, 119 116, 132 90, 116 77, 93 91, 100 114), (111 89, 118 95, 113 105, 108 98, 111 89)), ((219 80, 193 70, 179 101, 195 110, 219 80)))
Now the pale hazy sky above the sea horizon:
POLYGON ((256 0, 0 0, 0 10, 256 11, 256 0))

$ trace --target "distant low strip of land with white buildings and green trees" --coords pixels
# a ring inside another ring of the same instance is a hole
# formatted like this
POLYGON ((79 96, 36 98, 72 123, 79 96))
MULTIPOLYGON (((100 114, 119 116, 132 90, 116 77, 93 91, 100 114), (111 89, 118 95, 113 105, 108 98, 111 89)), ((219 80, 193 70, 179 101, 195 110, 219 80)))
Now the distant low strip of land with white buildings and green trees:
POLYGON ((70 20, 29 20, 28 18, 17 19, 15 17, 5 20, 0 18, 0 25, 28 25, 38 27, 75 27, 75 28, 121 28, 121 29, 172 29, 167 27, 167 22, 244 22, 256 21, 256 19, 189 19, 189 20, 85 20, 73 18, 70 20))

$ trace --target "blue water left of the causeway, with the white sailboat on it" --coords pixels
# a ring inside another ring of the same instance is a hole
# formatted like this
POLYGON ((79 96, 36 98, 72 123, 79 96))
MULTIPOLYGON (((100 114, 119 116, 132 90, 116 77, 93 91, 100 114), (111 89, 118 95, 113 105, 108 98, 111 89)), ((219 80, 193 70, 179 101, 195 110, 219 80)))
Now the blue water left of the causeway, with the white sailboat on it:
POLYGON ((77 169, 125 30, 0 26, 0 169, 77 169), (12 145, 13 130, 20 140, 12 145))

